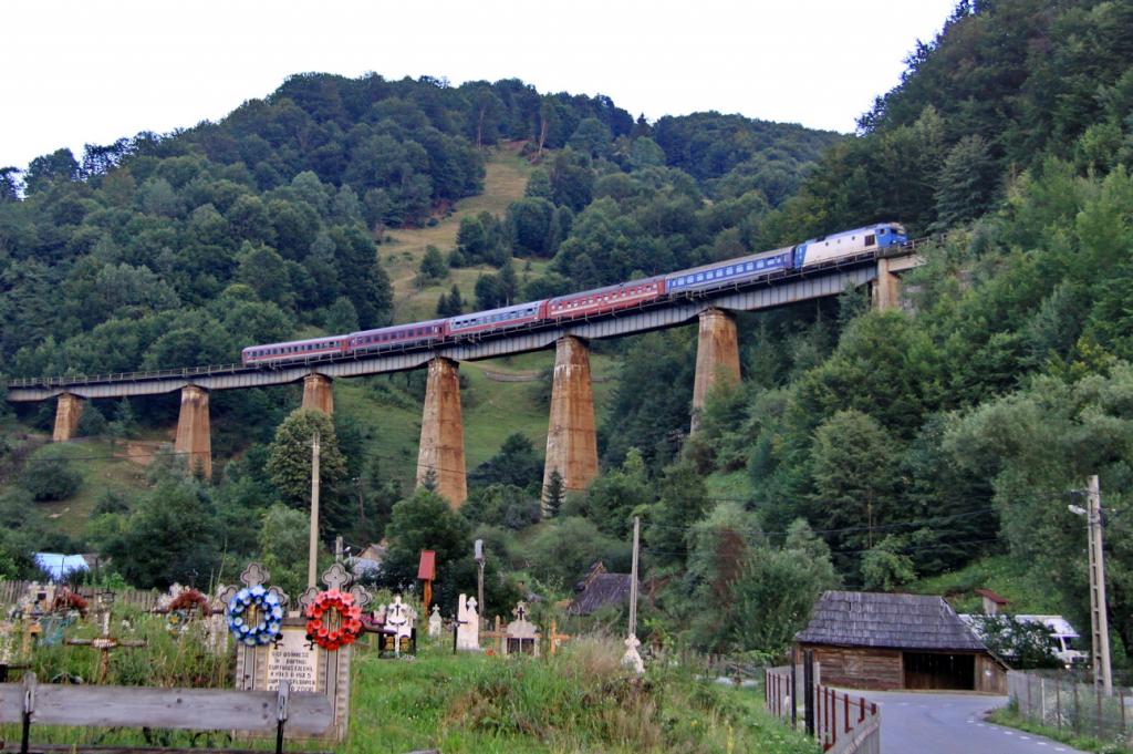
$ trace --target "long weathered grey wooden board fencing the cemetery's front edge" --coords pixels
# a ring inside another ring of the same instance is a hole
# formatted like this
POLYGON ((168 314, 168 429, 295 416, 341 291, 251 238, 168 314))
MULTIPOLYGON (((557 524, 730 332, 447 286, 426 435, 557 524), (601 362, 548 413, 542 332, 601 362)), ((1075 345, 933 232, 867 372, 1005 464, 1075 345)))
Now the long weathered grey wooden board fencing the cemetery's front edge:
MULTIPOLYGON (((275 692, 212 688, 37 685, 32 725, 274 732, 275 692)), ((0 684, 0 722, 20 722, 24 686, 0 684)), ((332 723, 331 700, 293 693, 288 702, 289 735, 325 732, 332 723)))

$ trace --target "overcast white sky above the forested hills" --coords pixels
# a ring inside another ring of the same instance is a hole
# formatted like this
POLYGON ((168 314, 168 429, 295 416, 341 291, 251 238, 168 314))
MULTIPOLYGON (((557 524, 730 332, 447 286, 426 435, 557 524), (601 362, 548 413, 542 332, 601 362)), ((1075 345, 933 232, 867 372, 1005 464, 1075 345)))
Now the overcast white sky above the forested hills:
POLYGON ((521 78, 849 132, 955 0, 0 0, 0 167, 219 120, 300 71, 521 78))

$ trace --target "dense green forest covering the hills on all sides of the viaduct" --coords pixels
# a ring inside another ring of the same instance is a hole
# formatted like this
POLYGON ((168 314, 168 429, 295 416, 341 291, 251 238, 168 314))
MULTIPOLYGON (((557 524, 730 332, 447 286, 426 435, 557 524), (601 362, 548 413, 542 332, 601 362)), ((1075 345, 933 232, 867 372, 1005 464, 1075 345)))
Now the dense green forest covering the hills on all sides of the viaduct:
MULTIPOLYGON (((485 155, 504 144, 534 166, 523 196, 462 217, 452 247, 421 259, 427 280, 482 270, 442 313, 898 219, 934 237, 905 279, 906 311, 872 312, 846 291, 741 316, 744 381, 712 397, 692 438, 695 332, 602 345, 621 362, 604 472, 550 520, 539 450, 523 435, 470 469, 469 501, 451 514, 368 452, 372 427, 322 420, 338 454, 324 471, 326 536, 385 535, 391 586, 411 581, 418 549, 435 549, 450 591, 472 577, 468 543, 484 539, 489 602, 502 604, 519 583, 565 594, 597 559, 625 567, 640 515, 648 630, 776 652, 821 588, 908 588, 988 558, 1010 564, 1024 604, 1088 622, 1084 525, 1066 506, 1099 474, 1125 656, 1130 28, 1122 2, 965 0, 849 137, 719 113, 634 120, 607 98, 516 81, 296 76, 219 124, 5 170, 0 371, 227 362, 250 342, 389 322, 390 234, 478 194, 485 155), (725 608, 708 619, 705 601, 725 608)), ((398 386, 421 389, 415 378, 368 389, 398 386)), ((28 511, 74 492, 66 457, 82 450, 36 449, 20 433, 42 429, 50 407, 9 408, 0 573, 58 548, 97 549, 140 585, 214 573, 221 553, 298 579, 305 516, 289 443, 321 420, 289 417, 291 405, 281 390, 218 395, 227 463, 213 480, 160 458, 137 494, 107 493, 70 534, 28 511)), ((123 401, 85 413, 85 431, 114 441, 169 424, 170 410, 123 401)))

